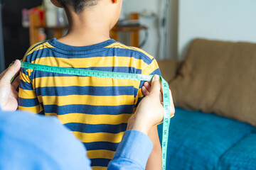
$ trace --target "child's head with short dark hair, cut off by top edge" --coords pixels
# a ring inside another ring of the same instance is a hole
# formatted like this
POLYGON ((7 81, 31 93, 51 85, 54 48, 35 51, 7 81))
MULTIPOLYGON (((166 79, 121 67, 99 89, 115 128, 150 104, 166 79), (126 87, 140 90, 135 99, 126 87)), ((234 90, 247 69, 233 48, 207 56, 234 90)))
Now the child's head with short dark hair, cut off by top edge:
MULTIPOLYGON (((80 15, 87 9, 99 9, 107 13, 107 17, 110 18, 112 23, 116 23, 122 9, 122 0, 50 0, 55 6, 65 8, 65 11, 72 11, 73 13, 80 15)), ((88 11, 88 10, 87 10, 88 11)), ((114 26, 114 25, 113 25, 114 26)))

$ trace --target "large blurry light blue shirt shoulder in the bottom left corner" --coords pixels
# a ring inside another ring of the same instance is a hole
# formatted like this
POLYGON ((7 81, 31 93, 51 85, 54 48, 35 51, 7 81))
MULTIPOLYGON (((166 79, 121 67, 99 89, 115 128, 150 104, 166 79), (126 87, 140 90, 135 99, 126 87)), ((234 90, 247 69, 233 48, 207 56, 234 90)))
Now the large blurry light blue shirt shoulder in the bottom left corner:
POLYGON ((0 108, 0 169, 88 169, 86 149, 60 120, 0 108))

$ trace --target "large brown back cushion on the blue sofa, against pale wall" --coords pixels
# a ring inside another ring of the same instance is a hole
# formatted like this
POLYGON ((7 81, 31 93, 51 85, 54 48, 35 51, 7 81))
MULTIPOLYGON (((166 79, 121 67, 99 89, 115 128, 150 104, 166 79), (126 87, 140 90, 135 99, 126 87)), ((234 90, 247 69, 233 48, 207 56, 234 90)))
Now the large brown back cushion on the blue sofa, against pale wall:
POLYGON ((176 106, 256 126, 256 44, 194 40, 170 86, 176 106))

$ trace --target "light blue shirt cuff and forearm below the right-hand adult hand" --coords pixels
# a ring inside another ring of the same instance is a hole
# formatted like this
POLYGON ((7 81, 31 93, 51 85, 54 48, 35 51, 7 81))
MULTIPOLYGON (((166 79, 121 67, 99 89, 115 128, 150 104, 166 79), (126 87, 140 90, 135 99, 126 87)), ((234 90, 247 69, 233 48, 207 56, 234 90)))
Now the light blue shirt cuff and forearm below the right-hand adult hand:
POLYGON ((137 130, 128 130, 124 132, 122 142, 107 169, 145 169, 152 149, 153 143, 147 135, 137 130))

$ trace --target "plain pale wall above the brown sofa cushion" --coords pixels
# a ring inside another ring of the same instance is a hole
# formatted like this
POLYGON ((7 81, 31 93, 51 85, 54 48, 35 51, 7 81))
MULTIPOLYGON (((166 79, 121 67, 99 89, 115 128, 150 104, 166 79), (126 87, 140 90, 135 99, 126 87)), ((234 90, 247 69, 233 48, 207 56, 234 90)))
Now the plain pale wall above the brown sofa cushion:
POLYGON ((180 0, 178 58, 195 38, 256 42, 255 0, 180 0))

